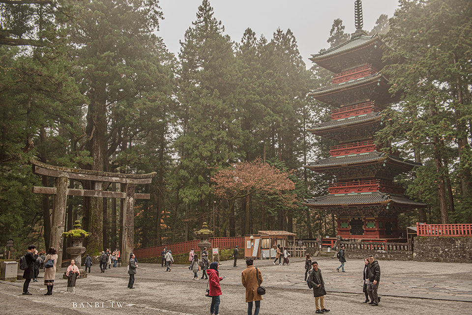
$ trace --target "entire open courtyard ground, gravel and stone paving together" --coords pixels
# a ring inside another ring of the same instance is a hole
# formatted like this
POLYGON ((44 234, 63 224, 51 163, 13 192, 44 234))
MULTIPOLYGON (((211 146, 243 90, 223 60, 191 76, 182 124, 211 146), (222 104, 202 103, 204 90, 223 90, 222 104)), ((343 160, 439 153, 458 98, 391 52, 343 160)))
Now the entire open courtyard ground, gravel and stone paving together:
MULTIPOLYGON (((470 263, 379 261, 379 295, 383 299, 373 307, 361 303, 362 260, 348 258, 347 272, 338 273, 337 259, 315 259, 323 271, 329 314, 472 314, 470 263)), ((303 282, 304 259, 293 258, 289 266, 274 266, 271 260, 256 260, 255 265, 261 268, 267 289, 260 314, 314 314, 313 293, 303 282)), ((246 314, 240 282, 244 267, 243 259, 238 260, 237 268, 233 268, 233 261, 223 261, 220 266, 220 275, 226 276, 221 282, 221 315, 246 314)), ((160 264, 139 264, 136 289, 130 290, 125 266, 100 273, 93 265, 89 277, 78 280, 75 294, 65 293, 67 281, 58 273, 52 296, 43 295, 46 291, 41 278, 31 283, 31 296, 21 294, 23 281, 0 281, 0 314, 208 315, 211 300, 204 296, 207 282, 193 281, 192 277, 184 265, 174 265, 172 272, 165 272, 160 264)))

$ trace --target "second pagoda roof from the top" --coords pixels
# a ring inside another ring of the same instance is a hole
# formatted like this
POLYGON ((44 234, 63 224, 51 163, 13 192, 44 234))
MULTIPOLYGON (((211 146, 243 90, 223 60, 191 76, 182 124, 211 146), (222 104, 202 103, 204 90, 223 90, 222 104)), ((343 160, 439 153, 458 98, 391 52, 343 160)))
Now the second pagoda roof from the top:
POLYGON ((335 107, 364 100, 375 101, 377 104, 390 104, 396 99, 392 98, 388 88, 388 80, 381 72, 377 72, 366 77, 311 90, 308 95, 335 107))

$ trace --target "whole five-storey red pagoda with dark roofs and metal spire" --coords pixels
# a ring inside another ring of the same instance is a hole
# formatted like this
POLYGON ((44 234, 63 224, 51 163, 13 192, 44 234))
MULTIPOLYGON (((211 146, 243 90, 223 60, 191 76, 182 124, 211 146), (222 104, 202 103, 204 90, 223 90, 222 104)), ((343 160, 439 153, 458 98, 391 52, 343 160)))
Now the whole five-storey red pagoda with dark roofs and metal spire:
POLYGON ((356 31, 351 39, 310 58, 334 75, 331 85, 309 95, 335 110, 330 121, 308 131, 338 144, 330 148, 329 158, 305 166, 334 175, 336 182, 329 185, 328 195, 304 204, 334 213, 337 234, 343 238, 398 238, 398 214, 425 204, 403 196, 405 190, 393 179, 421 164, 385 153, 374 144, 374 134, 382 128, 381 112, 396 100, 381 72, 386 47, 362 26, 362 4, 356 0, 356 31))

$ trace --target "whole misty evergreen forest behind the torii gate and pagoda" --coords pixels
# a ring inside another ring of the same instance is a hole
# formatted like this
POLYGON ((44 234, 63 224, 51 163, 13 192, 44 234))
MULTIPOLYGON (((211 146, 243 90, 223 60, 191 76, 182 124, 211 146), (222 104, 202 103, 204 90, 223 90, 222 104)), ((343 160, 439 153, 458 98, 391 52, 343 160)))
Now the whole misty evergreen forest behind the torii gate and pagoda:
MULTIPOLYGON (((335 144, 306 131, 329 119, 329 106, 306 94, 332 74, 305 63, 290 29, 230 38, 203 0, 176 56, 159 37, 158 1, 0 0, 0 13, 3 250, 9 238, 14 253, 49 246, 53 197, 31 189, 54 179, 33 174, 31 159, 157 172, 137 186, 150 199, 136 200, 136 247, 193 239, 204 222, 215 236, 335 236, 331 214, 302 204, 334 181, 303 167, 335 144)), ((366 31, 390 48, 384 75, 399 95, 376 139, 424 165, 396 177, 428 204, 401 214, 400 228, 472 223, 472 1, 400 0, 393 17, 366 31)), ((350 36, 336 19, 326 47, 350 36)), ((98 226, 96 254, 119 246, 122 205, 90 199, 68 197, 66 230, 75 220, 98 226)))

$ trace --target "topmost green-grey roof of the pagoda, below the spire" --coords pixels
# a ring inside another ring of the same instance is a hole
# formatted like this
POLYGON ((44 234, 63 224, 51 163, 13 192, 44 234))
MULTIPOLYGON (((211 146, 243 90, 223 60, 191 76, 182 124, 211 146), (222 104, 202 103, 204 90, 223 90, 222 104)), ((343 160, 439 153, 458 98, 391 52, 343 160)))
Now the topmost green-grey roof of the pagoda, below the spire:
POLYGON ((331 72, 339 73, 362 63, 382 68, 383 43, 379 36, 354 36, 344 43, 312 55, 311 61, 331 72))

